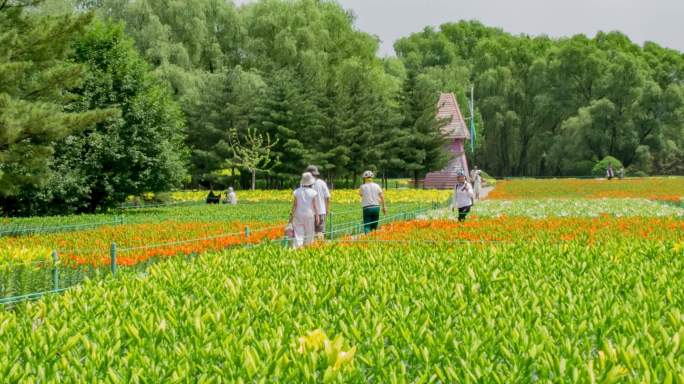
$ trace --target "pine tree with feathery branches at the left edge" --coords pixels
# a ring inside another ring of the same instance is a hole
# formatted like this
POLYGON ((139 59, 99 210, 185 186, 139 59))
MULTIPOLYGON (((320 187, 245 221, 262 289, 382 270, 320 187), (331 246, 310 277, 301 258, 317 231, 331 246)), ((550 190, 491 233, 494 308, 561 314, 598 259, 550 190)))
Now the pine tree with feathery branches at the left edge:
POLYGON ((84 67, 68 60, 70 42, 90 14, 39 16, 33 1, 0 1, 0 207, 30 214, 50 179, 54 142, 112 115, 66 108, 84 67))

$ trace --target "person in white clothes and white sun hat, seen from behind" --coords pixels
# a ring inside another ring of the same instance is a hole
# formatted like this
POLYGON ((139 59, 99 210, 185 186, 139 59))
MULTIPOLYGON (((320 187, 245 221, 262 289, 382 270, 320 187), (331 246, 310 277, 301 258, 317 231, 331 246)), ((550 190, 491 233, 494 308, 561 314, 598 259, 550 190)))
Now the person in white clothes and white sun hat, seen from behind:
POLYGON ((314 191, 313 185, 316 179, 309 172, 302 174, 300 187, 293 195, 292 211, 290 212, 290 222, 294 229, 293 248, 299 248, 313 242, 314 229, 318 225, 318 193, 314 191))

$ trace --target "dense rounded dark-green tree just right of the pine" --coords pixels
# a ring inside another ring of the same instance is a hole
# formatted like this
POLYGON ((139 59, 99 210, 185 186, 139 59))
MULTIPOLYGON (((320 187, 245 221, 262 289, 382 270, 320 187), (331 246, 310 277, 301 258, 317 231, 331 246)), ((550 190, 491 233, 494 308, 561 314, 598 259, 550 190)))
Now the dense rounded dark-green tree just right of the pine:
POLYGON ((55 198, 80 195, 75 208, 94 211, 129 195, 180 186, 185 176, 182 115, 123 27, 95 22, 75 46, 74 60, 89 70, 72 108, 118 108, 121 115, 59 143, 55 166, 62 176, 55 183, 70 193, 55 198))

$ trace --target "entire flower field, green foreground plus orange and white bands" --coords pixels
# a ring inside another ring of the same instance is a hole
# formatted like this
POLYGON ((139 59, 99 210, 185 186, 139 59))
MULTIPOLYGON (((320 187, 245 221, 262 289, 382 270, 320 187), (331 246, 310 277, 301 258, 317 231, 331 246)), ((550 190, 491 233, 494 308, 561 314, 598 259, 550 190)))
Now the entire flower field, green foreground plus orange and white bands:
MULTIPOLYGON (((540 189, 566 188, 553 183, 540 189)), ((262 243, 282 235, 285 201, 147 208, 123 224, 0 238, 6 265, 57 244, 97 269, 108 254, 89 247, 116 242, 123 267, 0 310, 0 377, 684 383, 684 208, 571 195, 481 201, 465 223, 446 209, 399 215, 301 251, 262 243)), ((335 204, 338 223, 358 222, 356 204, 335 204)))

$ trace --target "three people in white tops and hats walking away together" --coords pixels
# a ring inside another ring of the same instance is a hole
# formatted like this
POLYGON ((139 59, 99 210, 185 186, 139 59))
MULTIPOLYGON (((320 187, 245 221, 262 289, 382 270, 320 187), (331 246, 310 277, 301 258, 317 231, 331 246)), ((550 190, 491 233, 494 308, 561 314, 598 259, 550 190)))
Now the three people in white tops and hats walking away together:
MULTIPOLYGON (((359 189, 363 209, 363 228, 368 233, 378 228, 380 210, 387 214, 382 188, 373 182, 374 174, 365 171, 363 184, 359 189)), ((293 192, 292 209, 286 234, 292 239, 294 248, 311 244, 325 237, 325 223, 330 212, 330 190, 320 178, 318 167, 310 165, 302 174, 300 186, 293 192)))

